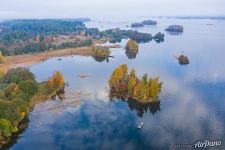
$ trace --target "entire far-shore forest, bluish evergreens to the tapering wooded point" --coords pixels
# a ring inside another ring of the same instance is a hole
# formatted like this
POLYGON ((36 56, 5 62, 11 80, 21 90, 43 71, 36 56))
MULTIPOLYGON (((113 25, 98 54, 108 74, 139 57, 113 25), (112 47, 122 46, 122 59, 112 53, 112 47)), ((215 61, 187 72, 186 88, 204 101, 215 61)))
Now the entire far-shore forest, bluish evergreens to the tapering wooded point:
MULTIPOLYGON (((82 21, 82 20, 81 20, 82 21)), ((111 43, 130 38, 138 43, 164 41, 164 34, 152 36, 119 28, 99 31, 87 28, 76 19, 25 19, 0 23, 0 51, 4 56, 39 53, 50 50, 90 46, 93 41, 107 39, 111 43)))

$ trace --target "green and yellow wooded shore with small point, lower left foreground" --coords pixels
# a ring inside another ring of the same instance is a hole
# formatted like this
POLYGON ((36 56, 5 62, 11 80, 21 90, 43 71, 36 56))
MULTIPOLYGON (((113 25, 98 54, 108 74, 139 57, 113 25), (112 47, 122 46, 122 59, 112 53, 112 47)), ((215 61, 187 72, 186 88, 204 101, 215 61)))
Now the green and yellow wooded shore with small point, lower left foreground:
MULTIPOLYGON (((22 129, 21 122, 36 103, 64 92, 63 75, 56 71, 47 81, 37 83, 26 68, 8 70, 0 76, 0 145, 10 142, 22 129)), ((1 148, 1 147, 0 147, 1 148)))

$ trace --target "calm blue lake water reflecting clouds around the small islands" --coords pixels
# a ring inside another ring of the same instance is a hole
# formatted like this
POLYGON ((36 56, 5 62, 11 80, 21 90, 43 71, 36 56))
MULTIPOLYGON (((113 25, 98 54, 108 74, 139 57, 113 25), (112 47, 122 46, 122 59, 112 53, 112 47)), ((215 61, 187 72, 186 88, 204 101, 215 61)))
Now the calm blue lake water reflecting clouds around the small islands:
MULTIPOLYGON (((140 17, 137 21, 146 18, 140 17)), ((98 62, 92 57, 51 58, 30 69, 38 81, 61 71, 69 82, 65 99, 36 105, 29 126, 11 147, 32 149, 175 149, 176 144, 222 141, 225 147, 225 21, 155 18, 157 26, 141 32, 165 33, 165 41, 139 45, 134 59, 123 48, 111 49, 115 58, 98 62), (171 24, 184 26, 184 33, 169 34, 171 24), (189 57, 181 66, 176 56, 189 57), (160 102, 147 111, 121 100, 109 100, 108 79, 120 64, 135 68, 141 77, 159 76, 163 82, 160 102), (80 74, 88 74, 80 78, 80 74), (136 109, 135 109, 136 108, 136 109), (137 124, 143 122, 141 129, 137 124)), ((87 23, 101 30, 129 29, 131 22, 87 23)), ((120 43, 125 46, 126 40, 120 43)))

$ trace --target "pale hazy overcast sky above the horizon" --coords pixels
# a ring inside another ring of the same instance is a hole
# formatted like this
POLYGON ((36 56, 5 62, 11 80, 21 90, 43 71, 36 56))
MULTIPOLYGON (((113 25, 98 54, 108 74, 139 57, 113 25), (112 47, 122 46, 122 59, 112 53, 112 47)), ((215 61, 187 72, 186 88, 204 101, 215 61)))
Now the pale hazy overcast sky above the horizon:
POLYGON ((0 19, 225 16, 225 0, 0 0, 0 19))

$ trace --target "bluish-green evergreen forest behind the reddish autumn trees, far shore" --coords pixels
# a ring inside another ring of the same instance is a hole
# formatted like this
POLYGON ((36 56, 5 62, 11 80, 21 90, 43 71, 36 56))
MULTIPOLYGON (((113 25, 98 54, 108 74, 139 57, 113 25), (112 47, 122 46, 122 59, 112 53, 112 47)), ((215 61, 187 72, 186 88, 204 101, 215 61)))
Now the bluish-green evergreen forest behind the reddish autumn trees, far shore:
POLYGON ((0 41, 10 45, 17 40, 27 41, 37 35, 69 35, 79 34, 85 27, 80 21, 66 20, 12 20, 1 25, 0 41))

